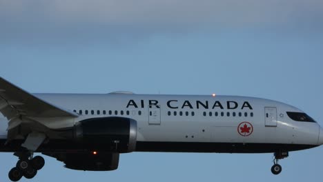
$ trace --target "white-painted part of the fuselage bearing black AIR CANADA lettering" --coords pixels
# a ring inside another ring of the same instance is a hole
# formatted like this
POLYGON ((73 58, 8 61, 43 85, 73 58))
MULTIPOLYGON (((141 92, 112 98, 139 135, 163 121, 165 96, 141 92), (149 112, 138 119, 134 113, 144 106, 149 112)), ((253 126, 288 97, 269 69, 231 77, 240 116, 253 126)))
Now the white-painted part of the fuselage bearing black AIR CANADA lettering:
MULTIPOLYGON (((293 121, 286 112, 302 112, 267 99, 231 96, 144 94, 35 94, 77 112, 66 127, 93 117, 127 117, 137 121, 137 141, 193 143, 284 143, 320 145, 320 125, 293 121), (246 128, 240 130, 246 122, 246 128), (249 125, 250 124, 250 125, 249 125)), ((6 135, 4 121, 0 137, 6 135)), ((59 119, 57 119, 59 120, 59 119)), ((44 121, 58 129, 62 122, 44 121)), ((321 136, 322 138, 322 136, 321 136)))

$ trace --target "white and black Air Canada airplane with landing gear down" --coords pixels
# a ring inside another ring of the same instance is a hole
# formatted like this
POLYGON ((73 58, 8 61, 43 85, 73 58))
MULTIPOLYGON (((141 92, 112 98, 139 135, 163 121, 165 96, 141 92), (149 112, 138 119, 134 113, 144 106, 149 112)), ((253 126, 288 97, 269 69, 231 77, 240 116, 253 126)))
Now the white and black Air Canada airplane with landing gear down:
POLYGON ((30 94, 0 77, 0 152, 14 152, 11 181, 32 179, 43 155, 72 170, 117 170, 128 152, 273 153, 323 144, 323 129, 300 109, 238 96, 30 94))

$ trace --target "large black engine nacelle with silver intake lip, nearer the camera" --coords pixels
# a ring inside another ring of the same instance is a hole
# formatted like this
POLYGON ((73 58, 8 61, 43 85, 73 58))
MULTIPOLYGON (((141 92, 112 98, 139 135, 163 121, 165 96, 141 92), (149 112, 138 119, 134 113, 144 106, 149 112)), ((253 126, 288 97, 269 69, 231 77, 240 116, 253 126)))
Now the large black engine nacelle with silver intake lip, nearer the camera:
POLYGON ((133 152, 137 142, 137 121, 124 117, 86 119, 75 125, 74 139, 88 150, 133 152))

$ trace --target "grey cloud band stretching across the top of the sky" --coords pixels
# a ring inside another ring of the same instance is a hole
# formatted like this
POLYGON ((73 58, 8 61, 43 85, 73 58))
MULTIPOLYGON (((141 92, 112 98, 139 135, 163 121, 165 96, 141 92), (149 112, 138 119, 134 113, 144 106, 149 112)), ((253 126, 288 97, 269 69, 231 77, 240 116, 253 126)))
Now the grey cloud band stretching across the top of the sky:
POLYGON ((128 39, 200 28, 322 30, 323 1, 0 0, 0 27, 8 42, 128 39))

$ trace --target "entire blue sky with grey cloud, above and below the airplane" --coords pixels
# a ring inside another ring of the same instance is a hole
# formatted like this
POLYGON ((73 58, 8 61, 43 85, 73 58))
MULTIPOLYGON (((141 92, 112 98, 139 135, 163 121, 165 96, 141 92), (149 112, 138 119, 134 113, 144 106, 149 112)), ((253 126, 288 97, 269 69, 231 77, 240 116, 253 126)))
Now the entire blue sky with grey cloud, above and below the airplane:
MULTIPOLYGON (((229 94, 295 105, 323 125, 320 1, 0 0, 1 77, 29 92, 229 94)), ((79 172, 46 157, 31 181, 317 181, 323 148, 272 154, 122 154, 79 172)), ((16 163, 0 154, 0 181, 16 163)), ((24 180, 23 180, 24 181, 24 180)))

